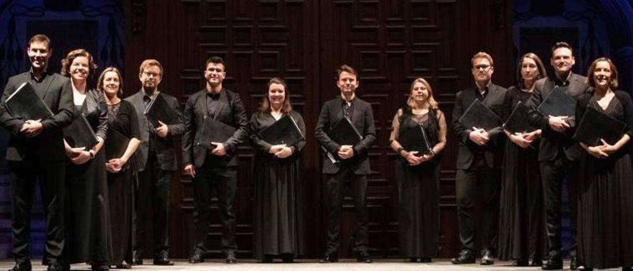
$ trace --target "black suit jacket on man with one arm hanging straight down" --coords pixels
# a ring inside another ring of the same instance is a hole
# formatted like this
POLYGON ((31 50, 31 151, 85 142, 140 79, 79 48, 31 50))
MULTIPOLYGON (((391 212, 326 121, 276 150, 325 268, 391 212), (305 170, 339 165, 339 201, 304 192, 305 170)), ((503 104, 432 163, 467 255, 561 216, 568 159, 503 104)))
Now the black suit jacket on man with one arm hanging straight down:
POLYGON ((213 160, 212 165, 215 167, 237 166, 235 152, 237 151, 237 146, 248 139, 248 118, 246 117, 242 99, 236 92, 223 88, 220 91, 219 101, 220 108, 216 109, 213 119, 235 127, 233 136, 222 142, 227 154, 216 156, 211 154, 211 150, 204 148, 204 146, 196 145, 196 142, 200 140, 204 117, 208 116, 206 89, 202 89, 189 96, 185 105, 185 134, 182 136, 183 165, 192 163, 194 167, 202 167, 207 155, 210 155, 209 158, 213 160))

